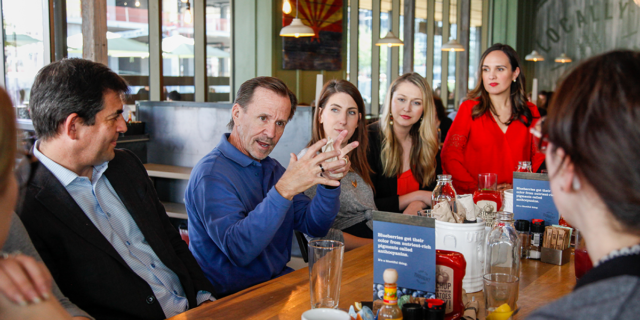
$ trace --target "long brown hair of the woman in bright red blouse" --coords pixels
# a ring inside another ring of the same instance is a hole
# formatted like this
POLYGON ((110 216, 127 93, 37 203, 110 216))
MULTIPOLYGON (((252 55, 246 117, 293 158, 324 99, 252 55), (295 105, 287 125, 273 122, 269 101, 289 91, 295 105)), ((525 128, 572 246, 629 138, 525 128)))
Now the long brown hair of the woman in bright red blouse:
POLYGON ((496 109, 491 103, 491 98, 489 97, 489 93, 484 88, 484 81, 482 81, 482 65, 484 65, 484 59, 489 55, 489 53, 493 51, 502 51, 509 58, 509 63, 511 63, 511 71, 515 72, 517 68, 520 69, 520 74, 516 78, 516 82, 511 83, 510 87, 510 99, 511 99, 511 118, 505 124, 509 125, 513 121, 521 121, 525 126, 530 126, 531 121, 533 119, 533 115, 531 114, 531 110, 527 106, 527 94, 524 88, 526 88, 526 82, 524 78, 524 72, 522 71, 522 66, 520 64, 520 59, 518 58, 518 54, 515 50, 509 45, 496 43, 492 45, 489 49, 487 49, 480 59, 480 66, 478 70, 478 85, 476 85, 473 91, 469 92, 467 98, 469 100, 478 100, 479 103, 473 107, 471 116, 475 120, 476 118, 482 116, 487 111, 496 113, 496 109), (524 119, 523 119, 524 117, 524 119))

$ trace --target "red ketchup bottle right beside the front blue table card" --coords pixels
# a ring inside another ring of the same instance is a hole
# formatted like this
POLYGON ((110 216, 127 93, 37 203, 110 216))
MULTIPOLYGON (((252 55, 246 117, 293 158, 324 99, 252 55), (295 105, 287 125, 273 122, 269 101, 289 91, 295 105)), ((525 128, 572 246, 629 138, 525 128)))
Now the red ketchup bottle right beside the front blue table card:
POLYGON ((466 268, 462 253, 436 250, 436 298, 446 303, 445 320, 460 319, 464 314, 462 278, 466 268))

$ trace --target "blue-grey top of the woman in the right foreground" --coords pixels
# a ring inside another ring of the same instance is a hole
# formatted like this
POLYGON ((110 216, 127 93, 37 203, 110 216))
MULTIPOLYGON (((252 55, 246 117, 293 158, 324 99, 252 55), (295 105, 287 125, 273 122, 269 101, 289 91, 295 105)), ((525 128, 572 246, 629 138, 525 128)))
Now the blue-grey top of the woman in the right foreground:
POLYGON ((536 311, 527 320, 638 319, 640 278, 618 276, 577 289, 536 311))

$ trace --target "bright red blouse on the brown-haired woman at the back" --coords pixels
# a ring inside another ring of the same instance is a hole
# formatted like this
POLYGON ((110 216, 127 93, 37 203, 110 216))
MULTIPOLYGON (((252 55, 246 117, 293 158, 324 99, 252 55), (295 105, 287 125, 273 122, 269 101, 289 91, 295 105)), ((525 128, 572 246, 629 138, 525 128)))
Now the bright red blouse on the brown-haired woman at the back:
MULTIPOLYGON (((472 193, 478 188, 479 173, 497 173, 498 184, 513 183, 518 161, 531 161, 536 172, 544 154, 536 151, 529 127, 521 121, 509 124, 503 133, 489 112, 475 120, 471 117, 476 100, 460 106, 442 147, 442 169, 453 176, 458 194, 472 193)), ((540 118, 538 108, 527 103, 533 119, 540 118)))

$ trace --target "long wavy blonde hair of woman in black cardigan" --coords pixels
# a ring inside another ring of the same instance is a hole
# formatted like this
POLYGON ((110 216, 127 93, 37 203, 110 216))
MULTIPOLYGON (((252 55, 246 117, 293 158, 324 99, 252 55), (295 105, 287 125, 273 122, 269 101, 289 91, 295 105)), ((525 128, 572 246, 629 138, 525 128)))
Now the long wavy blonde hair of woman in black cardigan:
POLYGON ((438 153, 436 108, 431 86, 415 72, 404 74, 396 79, 389 87, 384 101, 380 115, 382 174, 386 177, 396 177, 402 173, 402 145, 393 133, 390 121, 392 119, 391 99, 393 99, 393 94, 398 86, 403 82, 417 86, 422 92, 422 118, 411 127, 409 132, 412 140, 409 157, 413 177, 420 186, 426 187, 434 181, 436 173, 436 154, 438 153))

